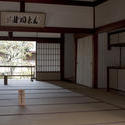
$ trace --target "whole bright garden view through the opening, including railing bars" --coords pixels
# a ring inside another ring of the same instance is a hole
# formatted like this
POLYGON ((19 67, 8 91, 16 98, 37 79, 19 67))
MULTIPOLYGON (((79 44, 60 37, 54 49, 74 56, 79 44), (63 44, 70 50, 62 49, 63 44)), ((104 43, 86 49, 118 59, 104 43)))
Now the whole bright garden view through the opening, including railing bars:
POLYGON ((35 77, 35 66, 35 41, 0 41, 0 78, 35 77))

